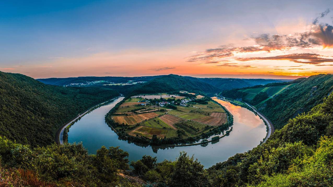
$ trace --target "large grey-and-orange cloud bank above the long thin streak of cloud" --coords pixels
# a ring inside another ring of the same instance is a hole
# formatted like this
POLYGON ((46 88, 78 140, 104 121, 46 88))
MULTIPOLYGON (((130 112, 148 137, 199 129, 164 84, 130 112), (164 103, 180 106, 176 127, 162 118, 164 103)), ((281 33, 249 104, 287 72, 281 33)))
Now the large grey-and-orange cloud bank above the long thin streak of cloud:
MULTIPOLYGON (((223 58, 233 58, 235 53, 245 52, 271 52, 273 50, 289 50, 293 47, 297 48, 310 48, 315 46, 333 47, 333 26, 329 24, 319 24, 319 19, 325 17, 330 13, 330 9, 322 12, 314 21, 311 31, 303 33, 294 33, 293 35, 270 35, 268 33, 253 36, 251 40, 254 40, 256 46, 244 46, 235 47, 232 44, 222 45, 218 48, 210 48, 205 51, 191 56, 188 58, 188 62, 196 61, 219 61, 223 58)), ((316 55, 316 54, 315 54, 316 55)), ((313 57, 316 58, 316 57, 313 57)), ((298 58, 300 59, 300 58, 298 58)), ((297 63, 305 64, 319 64, 322 63, 321 59, 313 59, 310 63, 305 61, 297 61, 297 59, 291 59, 290 61, 296 61, 297 63), (318 62, 317 62, 318 61, 318 62), (317 62, 317 63, 316 63, 317 62)), ((330 60, 329 60, 330 62, 330 60)), ((214 64, 214 62, 212 62, 214 64)))

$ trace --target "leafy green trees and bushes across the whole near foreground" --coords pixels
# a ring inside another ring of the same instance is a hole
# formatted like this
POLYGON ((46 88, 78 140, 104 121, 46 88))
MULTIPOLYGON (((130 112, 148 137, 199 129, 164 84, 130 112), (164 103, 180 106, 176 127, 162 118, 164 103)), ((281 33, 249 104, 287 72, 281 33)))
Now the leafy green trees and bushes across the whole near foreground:
MULTIPOLYGON (((330 186, 333 179, 333 94, 290 119, 268 141, 203 169, 184 152, 157 163, 128 161, 118 147, 89 155, 82 144, 30 148, 0 138, 3 184, 13 186, 330 186), (132 168, 130 169, 130 166, 132 168)), ((0 181, 2 182, 2 181, 0 181)), ((0 183, 1 184, 1 183, 0 183)))

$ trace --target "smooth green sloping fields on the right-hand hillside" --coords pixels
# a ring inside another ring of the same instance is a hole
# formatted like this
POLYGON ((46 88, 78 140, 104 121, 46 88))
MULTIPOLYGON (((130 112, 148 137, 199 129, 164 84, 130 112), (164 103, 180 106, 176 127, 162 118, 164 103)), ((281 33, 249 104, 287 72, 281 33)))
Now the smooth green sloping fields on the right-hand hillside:
MULTIPOLYGON (((245 98, 252 100, 254 96, 260 92, 266 92, 268 96, 272 97, 274 95, 280 94, 293 86, 295 86, 297 83, 290 84, 290 85, 280 85, 280 86, 272 86, 272 87, 263 87, 263 88, 251 88, 251 89, 244 89, 239 90, 240 92, 246 92, 248 93, 245 98)), ((266 99, 268 100, 268 99, 266 99)), ((265 101, 266 101, 265 100, 265 101)))

